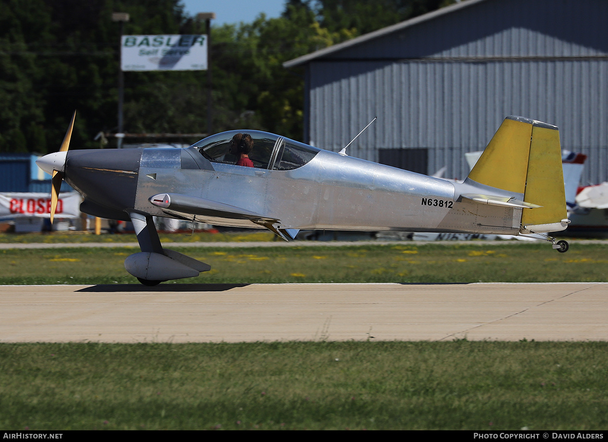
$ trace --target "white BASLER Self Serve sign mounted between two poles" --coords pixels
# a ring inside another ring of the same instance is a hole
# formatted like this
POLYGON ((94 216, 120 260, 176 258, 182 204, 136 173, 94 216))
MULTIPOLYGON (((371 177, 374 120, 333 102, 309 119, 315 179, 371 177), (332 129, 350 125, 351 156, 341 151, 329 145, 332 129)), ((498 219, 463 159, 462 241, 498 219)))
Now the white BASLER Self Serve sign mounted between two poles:
POLYGON ((123 35, 123 71, 204 71, 206 35, 123 35))

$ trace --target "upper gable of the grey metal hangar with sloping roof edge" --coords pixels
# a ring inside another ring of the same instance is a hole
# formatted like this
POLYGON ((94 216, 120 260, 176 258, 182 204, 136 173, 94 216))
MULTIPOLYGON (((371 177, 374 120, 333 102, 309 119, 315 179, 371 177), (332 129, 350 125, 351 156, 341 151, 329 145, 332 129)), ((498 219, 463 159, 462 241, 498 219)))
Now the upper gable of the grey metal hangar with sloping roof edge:
POLYGON ((608 57, 606 0, 467 0, 283 63, 608 57))

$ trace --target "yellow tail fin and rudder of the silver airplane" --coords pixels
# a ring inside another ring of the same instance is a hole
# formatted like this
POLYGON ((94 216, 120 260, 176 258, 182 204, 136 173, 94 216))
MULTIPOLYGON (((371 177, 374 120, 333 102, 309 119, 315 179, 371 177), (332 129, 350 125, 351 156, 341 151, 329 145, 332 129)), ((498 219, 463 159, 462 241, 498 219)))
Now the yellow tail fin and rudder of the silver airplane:
POLYGON ((506 117, 467 181, 523 196, 520 233, 557 232, 568 225, 556 126, 506 117))

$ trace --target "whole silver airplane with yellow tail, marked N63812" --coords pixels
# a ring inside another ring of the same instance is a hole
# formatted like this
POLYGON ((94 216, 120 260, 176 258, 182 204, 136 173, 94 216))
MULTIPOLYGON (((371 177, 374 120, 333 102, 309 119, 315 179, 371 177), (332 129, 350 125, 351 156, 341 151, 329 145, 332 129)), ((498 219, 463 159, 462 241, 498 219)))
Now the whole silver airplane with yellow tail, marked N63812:
POLYGON ((132 221, 141 252, 125 268, 145 285, 210 270, 164 249, 153 216, 265 228, 284 240, 300 229, 542 233, 568 249, 546 235, 568 225, 559 131, 536 120, 507 117, 459 183, 253 130, 180 149, 69 151, 74 117, 60 151, 36 161, 53 176, 51 222, 62 180, 83 196, 82 212, 132 221), (233 154, 244 133, 249 167, 233 154))

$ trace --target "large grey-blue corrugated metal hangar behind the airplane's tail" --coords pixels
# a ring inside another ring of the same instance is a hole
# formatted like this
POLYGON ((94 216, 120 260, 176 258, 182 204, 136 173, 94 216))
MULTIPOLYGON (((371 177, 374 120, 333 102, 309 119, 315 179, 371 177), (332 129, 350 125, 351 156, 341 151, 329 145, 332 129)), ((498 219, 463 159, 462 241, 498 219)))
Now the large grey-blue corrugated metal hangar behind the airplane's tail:
POLYGON ((589 156, 582 181, 598 183, 608 181, 607 22, 606 0, 468 0, 285 66, 306 67, 304 135, 318 147, 340 150, 378 116, 348 154, 427 149, 426 173, 446 166, 461 179, 464 154, 520 115, 559 126, 562 148, 589 156))

